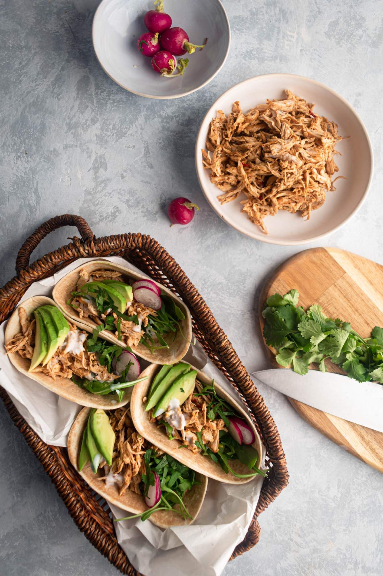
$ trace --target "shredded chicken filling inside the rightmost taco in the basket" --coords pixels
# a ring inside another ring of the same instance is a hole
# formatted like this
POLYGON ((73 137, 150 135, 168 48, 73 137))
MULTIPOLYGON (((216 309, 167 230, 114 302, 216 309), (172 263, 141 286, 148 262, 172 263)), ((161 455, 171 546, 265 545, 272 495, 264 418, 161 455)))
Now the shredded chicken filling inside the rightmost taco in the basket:
MULTIPOLYGON (((203 387, 204 386, 201 382, 196 380, 197 391, 201 392, 203 387)), ((179 414, 176 416, 181 416, 181 414, 183 415, 183 418, 185 418, 185 426, 180 426, 180 429, 175 429, 175 427, 173 427, 173 437, 180 440, 182 444, 186 445, 187 448, 191 450, 191 452, 201 452, 201 448, 198 448, 198 446, 194 444, 198 439, 197 432, 202 433, 204 444, 208 446, 212 452, 218 452, 220 430, 227 431, 225 423, 221 418, 209 420, 207 417, 206 406, 208 406, 210 401, 211 397, 209 394, 194 396, 194 393, 191 393, 185 403, 182 404, 182 410, 181 407, 177 408, 179 414)), ((153 411, 149 411, 150 421, 156 422, 157 420, 159 427, 165 426, 163 419, 165 418, 166 420, 167 416, 168 412, 154 418, 153 411)))

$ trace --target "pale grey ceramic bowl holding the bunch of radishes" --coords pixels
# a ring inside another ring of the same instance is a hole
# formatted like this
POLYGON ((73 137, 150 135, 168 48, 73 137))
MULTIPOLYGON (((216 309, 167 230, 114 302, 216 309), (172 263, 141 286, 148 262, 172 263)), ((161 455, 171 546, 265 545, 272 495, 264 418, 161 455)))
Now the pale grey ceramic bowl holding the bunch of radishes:
POLYGON ((185 29, 190 42, 204 50, 185 54, 189 65, 183 76, 161 78, 151 58, 137 49, 144 14, 154 10, 152 0, 102 0, 93 19, 93 47, 102 68, 122 88, 147 98, 179 98, 205 86, 220 71, 230 47, 230 26, 220 0, 166 0, 164 10, 173 26, 185 29), (138 66, 138 67, 136 67, 138 66))

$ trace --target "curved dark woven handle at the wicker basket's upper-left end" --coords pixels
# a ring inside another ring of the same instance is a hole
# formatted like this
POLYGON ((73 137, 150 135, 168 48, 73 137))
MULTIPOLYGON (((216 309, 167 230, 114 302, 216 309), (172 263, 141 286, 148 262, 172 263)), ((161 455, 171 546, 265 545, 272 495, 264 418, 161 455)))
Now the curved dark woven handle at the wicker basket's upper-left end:
POLYGON ((48 236, 53 230, 62 228, 63 226, 76 226, 79 233, 81 234, 82 240, 84 242, 92 241, 94 239, 94 234, 90 229, 89 224, 81 216, 76 216, 75 214, 62 214, 61 216, 55 216, 47 222, 44 222, 26 238, 24 244, 17 253, 16 258, 16 273, 20 274, 21 270, 25 270, 29 266, 30 255, 36 246, 40 244, 41 240, 48 236))

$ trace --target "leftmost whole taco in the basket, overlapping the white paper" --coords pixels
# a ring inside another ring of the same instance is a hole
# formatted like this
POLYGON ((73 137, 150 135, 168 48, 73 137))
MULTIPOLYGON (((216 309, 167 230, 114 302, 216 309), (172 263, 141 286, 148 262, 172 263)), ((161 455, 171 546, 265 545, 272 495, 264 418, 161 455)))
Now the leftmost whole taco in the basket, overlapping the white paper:
POLYGON ((121 346, 98 338, 97 331, 92 336, 87 330, 68 322, 51 298, 36 296, 10 317, 5 350, 22 374, 59 396, 82 406, 123 406, 140 381, 139 362, 121 346))

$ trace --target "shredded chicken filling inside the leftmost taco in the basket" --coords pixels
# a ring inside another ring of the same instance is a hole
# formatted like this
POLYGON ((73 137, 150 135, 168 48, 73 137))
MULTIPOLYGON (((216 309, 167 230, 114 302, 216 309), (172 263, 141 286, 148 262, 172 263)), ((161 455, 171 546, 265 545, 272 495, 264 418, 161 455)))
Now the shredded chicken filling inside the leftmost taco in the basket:
MULTIPOLYGON (((18 308, 21 332, 10 340, 6 346, 6 353, 18 353, 22 358, 31 359, 35 348, 36 320, 28 318, 22 306, 18 308)), ((116 374, 110 374, 106 366, 101 366, 95 352, 87 352, 83 346, 87 332, 79 330, 75 324, 70 324, 67 337, 53 354, 45 366, 36 366, 32 372, 42 372, 53 380, 56 378, 71 378, 72 374, 87 380, 110 382, 119 378, 116 374)))

